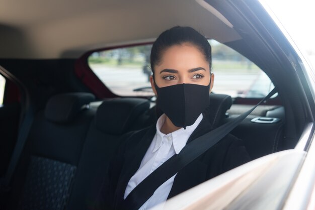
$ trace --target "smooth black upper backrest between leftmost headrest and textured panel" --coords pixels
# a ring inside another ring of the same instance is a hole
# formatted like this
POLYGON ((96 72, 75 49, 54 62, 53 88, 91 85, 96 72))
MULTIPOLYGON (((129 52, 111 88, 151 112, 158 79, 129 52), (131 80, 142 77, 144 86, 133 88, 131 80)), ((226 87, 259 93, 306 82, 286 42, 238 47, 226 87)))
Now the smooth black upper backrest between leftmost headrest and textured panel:
POLYGON ((39 112, 29 136, 32 153, 76 165, 94 115, 95 111, 85 110, 71 123, 59 124, 39 112))

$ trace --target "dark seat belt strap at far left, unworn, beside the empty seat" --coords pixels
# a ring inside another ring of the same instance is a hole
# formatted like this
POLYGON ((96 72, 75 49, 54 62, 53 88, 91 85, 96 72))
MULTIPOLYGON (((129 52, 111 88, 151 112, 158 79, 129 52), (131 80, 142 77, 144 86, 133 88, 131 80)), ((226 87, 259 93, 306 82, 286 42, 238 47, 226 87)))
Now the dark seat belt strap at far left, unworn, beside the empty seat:
POLYGON ((13 173, 16 169, 16 166, 19 162, 22 150, 24 148, 26 139, 28 137, 29 131, 30 131, 32 123, 33 123, 34 112, 33 112, 32 106, 30 106, 30 104, 28 107, 29 108, 26 109, 24 120, 22 121, 21 126, 20 126, 18 139, 17 139, 16 145, 15 145, 14 151, 12 153, 11 160, 10 160, 6 175, 1 180, 1 183, 0 183, 0 195, 2 196, 1 200, 4 199, 5 194, 10 191, 10 181, 11 181, 12 175, 13 175, 13 173))

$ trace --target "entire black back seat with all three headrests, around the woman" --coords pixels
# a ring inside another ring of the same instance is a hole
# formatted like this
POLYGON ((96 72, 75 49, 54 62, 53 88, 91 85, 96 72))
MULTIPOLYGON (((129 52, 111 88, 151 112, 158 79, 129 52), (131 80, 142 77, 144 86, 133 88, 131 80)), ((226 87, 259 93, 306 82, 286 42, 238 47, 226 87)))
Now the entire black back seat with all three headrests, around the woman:
MULTIPOLYGON (((46 209, 92 208, 124 135, 156 122, 147 99, 106 99, 96 106, 93 100, 89 93, 56 95, 36 115, 13 177, 9 209, 38 209, 43 203, 46 209)), ((210 94, 210 103, 208 117, 218 127, 232 99, 210 94)))

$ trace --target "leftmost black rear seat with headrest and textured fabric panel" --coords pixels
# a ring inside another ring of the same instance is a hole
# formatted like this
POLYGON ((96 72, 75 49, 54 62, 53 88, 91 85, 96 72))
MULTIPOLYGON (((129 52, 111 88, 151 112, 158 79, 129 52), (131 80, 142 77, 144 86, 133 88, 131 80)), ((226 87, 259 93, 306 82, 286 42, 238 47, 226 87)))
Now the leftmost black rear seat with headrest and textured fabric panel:
POLYGON ((90 93, 50 98, 36 114, 12 177, 8 209, 63 209, 76 174, 82 146, 95 112, 90 93))

